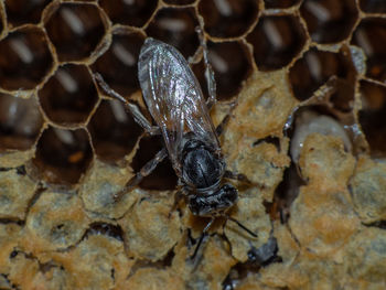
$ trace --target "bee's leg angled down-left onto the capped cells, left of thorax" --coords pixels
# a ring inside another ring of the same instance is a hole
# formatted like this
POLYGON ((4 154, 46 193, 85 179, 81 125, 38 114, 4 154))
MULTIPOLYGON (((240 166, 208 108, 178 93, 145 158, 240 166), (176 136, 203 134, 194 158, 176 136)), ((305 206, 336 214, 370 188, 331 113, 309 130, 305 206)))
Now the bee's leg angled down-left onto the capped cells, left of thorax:
POLYGON ((162 162, 163 159, 165 159, 165 157, 168 155, 167 149, 162 148, 160 151, 158 151, 158 153, 156 154, 156 157, 148 161, 141 169, 139 172, 136 173, 136 175, 133 175, 125 185, 125 187, 117 192, 114 195, 114 200, 116 202, 118 202, 126 193, 130 192, 130 190, 135 186, 137 186, 142 180, 143 178, 148 176, 151 172, 153 172, 153 170, 157 168, 157 165, 162 162))

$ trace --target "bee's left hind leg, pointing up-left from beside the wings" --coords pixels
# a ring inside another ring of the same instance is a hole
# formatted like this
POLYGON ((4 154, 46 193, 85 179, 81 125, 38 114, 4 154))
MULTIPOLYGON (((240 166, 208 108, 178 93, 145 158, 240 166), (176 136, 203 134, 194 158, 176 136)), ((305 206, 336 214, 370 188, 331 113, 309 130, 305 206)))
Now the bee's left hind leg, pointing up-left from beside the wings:
POLYGON ((98 85, 105 90, 107 95, 110 97, 120 100, 125 104, 125 106, 129 109, 131 116, 135 118, 136 122, 141 126, 150 135, 159 135, 160 129, 157 126, 152 126, 148 119, 142 115, 140 109, 137 105, 128 101, 126 98, 124 98, 121 95, 119 95, 117 92, 115 92, 110 86, 105 82, 103 76, 99 73, 95 73, 93 75, 94 79, 98 85))

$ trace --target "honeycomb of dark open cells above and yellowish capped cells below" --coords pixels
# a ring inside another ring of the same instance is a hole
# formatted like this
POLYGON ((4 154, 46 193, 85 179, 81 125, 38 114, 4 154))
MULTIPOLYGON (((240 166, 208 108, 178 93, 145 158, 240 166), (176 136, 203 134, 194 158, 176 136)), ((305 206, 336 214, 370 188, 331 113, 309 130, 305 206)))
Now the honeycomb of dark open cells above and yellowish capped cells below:
POLYGON ((0 1, 0 289, 385 289, 386 2, 0 1), (232 221, 175 202, 136 103, 148 36, 217 83, 232 221), (195 57, 193 57, 195 56, 195 57), (175 208, 175 210, 174 210, 175 208))

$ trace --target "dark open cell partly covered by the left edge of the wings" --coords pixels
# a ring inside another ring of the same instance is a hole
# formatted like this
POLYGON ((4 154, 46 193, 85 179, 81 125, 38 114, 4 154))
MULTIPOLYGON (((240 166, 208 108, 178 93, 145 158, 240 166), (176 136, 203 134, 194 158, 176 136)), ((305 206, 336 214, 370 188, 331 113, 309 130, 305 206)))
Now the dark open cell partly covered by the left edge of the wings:
POLYGON ((92 66, 105 82, 122 96, 140 89, 137 61, 144 37, 140 33, 115 34, 107 52, 92 66))

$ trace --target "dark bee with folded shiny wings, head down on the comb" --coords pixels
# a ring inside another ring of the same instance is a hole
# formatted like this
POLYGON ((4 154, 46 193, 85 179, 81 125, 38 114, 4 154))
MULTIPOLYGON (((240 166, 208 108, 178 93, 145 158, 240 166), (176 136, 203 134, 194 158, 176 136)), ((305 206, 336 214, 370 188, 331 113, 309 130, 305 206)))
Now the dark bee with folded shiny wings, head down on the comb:
POLYGON ((148 110, 157 123, 156 127, 151 126, 135 104, 110 89, 100 75, 95 75, 99 85, 109 95, 127 105, 136 121, 144 130, 151 135, 161 133, 164 140, 164 148, 128 182, 118 193, 118 197, 149 175, 157 164, 169 155, 179 178, 179 185, 187 197, 191 212, 197 216, 211 217, 193 257, 216 216, 225 216, 251 236, 257 237, 238 221, 225 215, 227 210, 236 203, 238 192, 230 183, 223 183, 227 172, 226 164, 208 114, 216 100, 214 73, 208 63, 203 34, 202 32, 199 34, 206 66, 210 93, 207 101, 189 63, 173 46, 148 37, 141 47, 138 78, 148 110))

